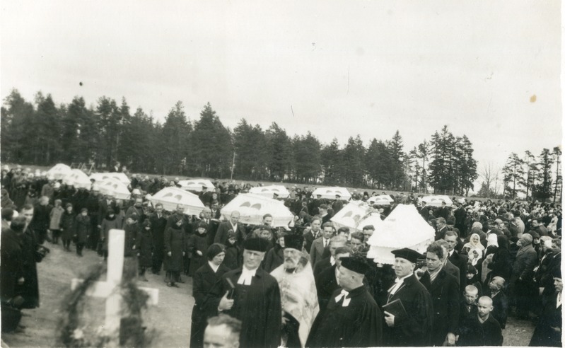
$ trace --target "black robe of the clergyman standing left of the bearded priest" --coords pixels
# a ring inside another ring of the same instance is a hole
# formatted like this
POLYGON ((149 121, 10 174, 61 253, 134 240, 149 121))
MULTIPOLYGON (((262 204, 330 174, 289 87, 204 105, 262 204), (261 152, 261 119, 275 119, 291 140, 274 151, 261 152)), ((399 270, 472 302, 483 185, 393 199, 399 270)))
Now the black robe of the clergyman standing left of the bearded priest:
POLYGON ((279 283, 261 267, 257 268, 250 285, 238 284, 242 268, 223 274, 210 291, 211 308, 218 308, 220 299, 235 286, 233 307, 223 311, 241 320, 240 347, 279 347, 281 344, 281 292, 279 283))

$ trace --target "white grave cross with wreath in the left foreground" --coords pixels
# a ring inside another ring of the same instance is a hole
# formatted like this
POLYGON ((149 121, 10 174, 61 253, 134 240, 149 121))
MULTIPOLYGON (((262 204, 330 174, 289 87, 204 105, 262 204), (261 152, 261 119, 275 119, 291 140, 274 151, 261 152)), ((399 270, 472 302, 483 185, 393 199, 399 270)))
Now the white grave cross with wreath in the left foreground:
MULTIPOLYGON (((120 341, 120 320, 122 319, 122 294, 120 283, 124 270, 124 230, 110 230, 108 233, 108 262, 106 282, 94 282, 86 294, 93 297, 106 298, 105 334, 110 338, 109 347, 117 347, 120 341)), ((76 289, 82 279, 73 279, 71 289, 76 289)), ((139 289, 149 295, 148 304, 156 305, 159 301, 159 290, 145 287, 139 289)))

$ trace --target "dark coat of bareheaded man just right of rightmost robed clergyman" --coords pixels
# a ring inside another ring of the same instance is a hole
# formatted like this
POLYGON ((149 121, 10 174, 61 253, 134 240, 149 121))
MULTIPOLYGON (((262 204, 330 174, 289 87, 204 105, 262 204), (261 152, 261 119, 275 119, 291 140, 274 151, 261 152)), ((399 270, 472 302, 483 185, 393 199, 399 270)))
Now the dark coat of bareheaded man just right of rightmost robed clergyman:
POLYGON ((441 269, 433 283, 430 282, 428 272, 424 273, 420 282, 428 289, 433 303, 431 344, 441 346, 448 332, 455 335, 458 329, 459 286, 457 278, 445 272, 445 269, 441 269))

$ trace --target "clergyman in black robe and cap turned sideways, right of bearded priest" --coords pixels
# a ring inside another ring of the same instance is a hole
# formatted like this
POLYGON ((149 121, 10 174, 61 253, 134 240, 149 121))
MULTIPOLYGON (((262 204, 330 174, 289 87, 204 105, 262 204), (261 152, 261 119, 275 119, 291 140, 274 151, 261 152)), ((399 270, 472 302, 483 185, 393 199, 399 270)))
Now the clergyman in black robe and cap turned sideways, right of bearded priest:
POLYGON ((342 257, 338 280, 325 311, 316 318, 306 347, 376 347, 383 345, 383 315, 363 286, 369 269, 360 256, 342 257))

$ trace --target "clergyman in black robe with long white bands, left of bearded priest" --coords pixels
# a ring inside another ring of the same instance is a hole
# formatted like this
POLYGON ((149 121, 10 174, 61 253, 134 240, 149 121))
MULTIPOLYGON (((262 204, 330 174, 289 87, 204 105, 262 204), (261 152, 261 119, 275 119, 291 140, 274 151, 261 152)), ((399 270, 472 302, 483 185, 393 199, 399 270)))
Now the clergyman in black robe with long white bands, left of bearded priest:
POLYGON ((240 347, 279 347, 281 293, 279 283, 260 267, 269 242, 243 243, 243 266, 223 274, 210 291, 207 306, 241 320, 240 347))

